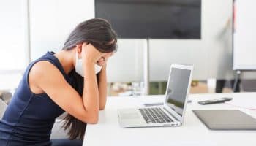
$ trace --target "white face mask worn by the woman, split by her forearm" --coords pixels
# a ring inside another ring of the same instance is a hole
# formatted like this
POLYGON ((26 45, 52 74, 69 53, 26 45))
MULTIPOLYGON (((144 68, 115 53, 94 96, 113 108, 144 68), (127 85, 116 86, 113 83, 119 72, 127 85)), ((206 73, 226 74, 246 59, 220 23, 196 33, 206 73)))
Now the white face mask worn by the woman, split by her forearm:
MULTIPOLYGON (((102 70, 102 66, 97 64, 94 65, 95 74, 98 74, 102 70)), ((78 58, 78 52, 75 53, 75 72, 80 74, 80 76, 84 77, 83 72, 83 61, 78 58)))

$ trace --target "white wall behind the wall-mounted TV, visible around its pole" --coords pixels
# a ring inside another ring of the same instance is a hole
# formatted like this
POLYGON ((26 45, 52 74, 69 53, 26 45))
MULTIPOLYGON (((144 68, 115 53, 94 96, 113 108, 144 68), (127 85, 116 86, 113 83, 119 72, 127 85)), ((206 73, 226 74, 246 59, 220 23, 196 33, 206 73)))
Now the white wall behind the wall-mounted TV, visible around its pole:
MULTIPOLYGON (((202 0, 202 39, 150 41, 150 79, 167 80, 170 64, 194 64, 194 79, 231 78, 232 1, 202 0)), ((31 0, 31 58, 59 50, 78 23, 94 17, 93 0, 31 0)), ((108 80, 143 80, 143 40, 119 39, 108 80)))

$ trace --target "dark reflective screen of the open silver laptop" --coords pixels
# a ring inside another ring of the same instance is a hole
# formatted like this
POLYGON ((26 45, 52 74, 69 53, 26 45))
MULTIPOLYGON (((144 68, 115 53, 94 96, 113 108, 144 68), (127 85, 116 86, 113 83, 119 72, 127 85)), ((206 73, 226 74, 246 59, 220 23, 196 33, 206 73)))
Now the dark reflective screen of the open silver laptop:
POLYGON ((191 70, 172 68, 167 86, 166 104, 182 116, 191 70))

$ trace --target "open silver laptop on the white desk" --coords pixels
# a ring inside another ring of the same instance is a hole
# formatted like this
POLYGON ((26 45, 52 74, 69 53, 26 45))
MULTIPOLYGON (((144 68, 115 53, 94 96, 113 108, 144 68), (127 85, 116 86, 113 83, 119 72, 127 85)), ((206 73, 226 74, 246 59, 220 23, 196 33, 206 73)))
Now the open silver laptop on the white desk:
POLYGON ((121 127, 181 126, 187 105, 193 66, 173 64, 163 106, 119 109, 121 127))

